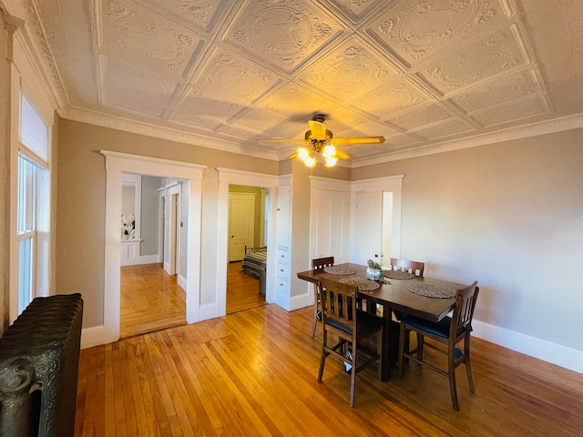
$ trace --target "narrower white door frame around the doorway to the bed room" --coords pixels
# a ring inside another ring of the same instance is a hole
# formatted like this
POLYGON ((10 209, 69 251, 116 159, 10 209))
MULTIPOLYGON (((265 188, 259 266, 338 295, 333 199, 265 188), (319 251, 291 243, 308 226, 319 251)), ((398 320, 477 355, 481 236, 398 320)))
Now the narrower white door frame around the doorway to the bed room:
POLYGON ((224 316, 227 313, 227 263, 229 259, 229 186, 244 185, 248 187, 262 187, 270 190, 270 213, 268 219, 268 241, 267 241, 267 271, 266 271, 266 291, 265 300, 268 303, 273 302, 275 293, 275 218, 277 216, 277 186, 279 178, 277 176, 265 175, 261 173, 252 173, 249 171, 233 170, 231 168, 215 168, 219 173, 219 223, 217 229, 217 277, 216 277, 216 307, 214 310, 208 310, 202 317, 212 319, 214 317, 224 316))

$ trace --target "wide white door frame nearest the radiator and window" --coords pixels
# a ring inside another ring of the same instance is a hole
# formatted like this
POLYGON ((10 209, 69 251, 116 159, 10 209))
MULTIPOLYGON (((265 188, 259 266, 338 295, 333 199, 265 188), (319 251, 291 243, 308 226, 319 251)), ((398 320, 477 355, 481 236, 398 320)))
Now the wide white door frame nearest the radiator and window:
POLYGON ((105 284, 103 301, 103 330, 87 332, 83 347, 119 340, 120 260, 119 218, 121 215, 122 173, 180 178, 189 187, 189 235, 187 239, 186 320, 199 321, 200 296, 200 212, 202 170, 206 166, 148 158, 138 155, 101 150, 106 157, 106 229, 105 284))

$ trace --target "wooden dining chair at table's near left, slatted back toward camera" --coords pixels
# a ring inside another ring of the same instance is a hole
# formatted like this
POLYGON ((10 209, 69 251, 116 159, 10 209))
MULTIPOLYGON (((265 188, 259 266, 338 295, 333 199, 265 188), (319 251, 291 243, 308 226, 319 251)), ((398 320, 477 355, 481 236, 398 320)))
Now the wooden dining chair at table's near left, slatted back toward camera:
POLYGON ((350 406, 354 406, 356 374, 378 361, 377 377, 381 379, 384 320, 363 310, 356 309, 355 285, 322 279, 322 360, 318 382, 322 382, 326 358, 333 355, 350 364, 350 406), (364 346, 362 340, 377 334, 376 350, 364 346), (337 336, 334 343, 331 334, 337 336), (350 354, 347 354, 350 351, 350 354), (361 357, 363 355, 364 360, 361 357), (358 362, 357 362, 358 361, 358 362), (360 362, 360 364, 359 364, 360 362))

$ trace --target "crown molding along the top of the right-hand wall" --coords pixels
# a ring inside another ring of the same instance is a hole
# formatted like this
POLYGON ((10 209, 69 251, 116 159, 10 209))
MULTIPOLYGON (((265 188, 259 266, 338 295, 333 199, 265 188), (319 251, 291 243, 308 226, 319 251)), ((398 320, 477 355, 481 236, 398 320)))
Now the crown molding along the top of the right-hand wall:
POLYGON ((554 118, 552 120, 540 121, 521 127, 512 127, 496 132, 490 132, 476 137, 467 137, 452 141, 444 141, 438 144, 415 147, 409 150, 403 150, 394 153, 387 153, 373 158, 353 158, 351 168, 360 168, 382 164, 384 162, 398 161, 408 158, 420 158, 436 153, 451 152, 463 148, 487 146, 489 144, 513 141, 516 139, 538 137, 540 135, 563 132, 565 130, 579 129, 583 127, 583 114, 577 114, 569 117, 554 118))

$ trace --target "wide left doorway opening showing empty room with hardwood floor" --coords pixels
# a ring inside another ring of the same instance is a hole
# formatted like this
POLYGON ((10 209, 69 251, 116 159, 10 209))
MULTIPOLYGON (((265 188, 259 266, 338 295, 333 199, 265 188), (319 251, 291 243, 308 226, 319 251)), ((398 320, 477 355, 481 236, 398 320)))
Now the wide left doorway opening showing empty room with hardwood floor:
POLYGON ((186 290, 179 279, 180 224, 187 220, 180 217, 183 181, 148 175, 126 178, 136 179, 139 189, 122 190, 122 212, 131 207, 138 232, 134 236, 132 230, 121 243, 122 249, 129 244, 136 252, 121 267, 121 338, 186 324, 186 290))

